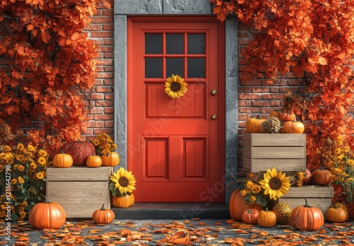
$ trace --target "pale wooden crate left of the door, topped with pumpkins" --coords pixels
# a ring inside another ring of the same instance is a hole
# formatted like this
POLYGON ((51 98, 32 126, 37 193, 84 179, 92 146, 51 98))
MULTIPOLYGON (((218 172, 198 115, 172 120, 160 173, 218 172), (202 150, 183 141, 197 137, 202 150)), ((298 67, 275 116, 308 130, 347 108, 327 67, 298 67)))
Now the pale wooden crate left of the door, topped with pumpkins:
POLYGON ((61 204, 67 218, 91 218, 110 209, 109 180, 113 167, 47 168, 47 199, 61 204))

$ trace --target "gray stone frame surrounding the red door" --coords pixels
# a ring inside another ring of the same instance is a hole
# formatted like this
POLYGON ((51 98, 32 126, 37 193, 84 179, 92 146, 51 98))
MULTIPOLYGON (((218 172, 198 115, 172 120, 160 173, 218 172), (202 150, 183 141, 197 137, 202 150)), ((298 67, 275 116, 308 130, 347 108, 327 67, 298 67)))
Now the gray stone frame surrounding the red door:
MULTIPOLYGON (((127 168, 127 17, 142 15, 214 16, 209 0, 115 0, 114 2, 114 141, 120 165, 127 168)), ((238 35, 236 18, 225 25, 225 183, 237 175, 238 35)), ((231 192, 225 192, 229 202, 231 192)))

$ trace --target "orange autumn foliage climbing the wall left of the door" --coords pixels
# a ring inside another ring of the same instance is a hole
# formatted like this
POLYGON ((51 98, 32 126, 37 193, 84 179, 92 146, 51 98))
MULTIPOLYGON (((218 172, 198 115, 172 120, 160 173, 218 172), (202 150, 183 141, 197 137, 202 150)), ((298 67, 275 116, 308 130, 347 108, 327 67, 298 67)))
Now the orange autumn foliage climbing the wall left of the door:
POLYGON ((97 52, 83 29, 95 11, 95 0, 0 1, 0 123, 35 122, 30 141, 54 153, 86 128, 79 92, 93 86, 97 52))

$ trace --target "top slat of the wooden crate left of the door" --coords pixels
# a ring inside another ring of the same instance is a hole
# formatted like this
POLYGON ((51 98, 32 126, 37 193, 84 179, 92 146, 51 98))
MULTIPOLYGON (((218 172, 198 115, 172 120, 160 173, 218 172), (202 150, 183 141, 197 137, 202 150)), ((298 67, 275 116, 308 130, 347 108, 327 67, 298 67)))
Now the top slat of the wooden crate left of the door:
POLYGON ((109 180, 113 174, 113 167, 76 167, 71 168, 47 168, 47 180, 64 181, 64 180, 86 180, 86 181, 103 181, 109 180))

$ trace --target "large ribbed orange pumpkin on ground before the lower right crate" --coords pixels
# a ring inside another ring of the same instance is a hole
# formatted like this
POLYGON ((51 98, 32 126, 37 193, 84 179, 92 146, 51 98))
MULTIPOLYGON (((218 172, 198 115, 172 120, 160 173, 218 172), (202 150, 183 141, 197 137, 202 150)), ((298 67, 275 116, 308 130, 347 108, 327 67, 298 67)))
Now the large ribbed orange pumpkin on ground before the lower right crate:
POLYGON ((317 230, 324 225, 324 214, 315 206, 297 206, 290 215, 290 225, 299 230, 317 230))

